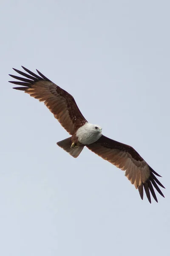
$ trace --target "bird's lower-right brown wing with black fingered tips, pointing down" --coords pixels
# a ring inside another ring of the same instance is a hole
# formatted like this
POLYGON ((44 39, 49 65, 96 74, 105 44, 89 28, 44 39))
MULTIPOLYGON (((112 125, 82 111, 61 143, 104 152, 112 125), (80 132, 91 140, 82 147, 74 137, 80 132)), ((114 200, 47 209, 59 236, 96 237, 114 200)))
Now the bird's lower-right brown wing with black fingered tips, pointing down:
POLYGON ((159 194, 164 197, 163 193, 159 189, 159 186, 162 188, 164 188, 164 186, 155 177, 155 175, 159 177, 161 176, 156 173, 131 146, 111 140, 104 135, 102 135, 102 137, 100 137, 100 139, 95 143, 86 146, 95 154, 125 171, 125 176, 136 187, 136 189, 139 190, 142 200, 143 187, 150 203, 150 192, 155 201, 158 202, 153 186, 159 194))

